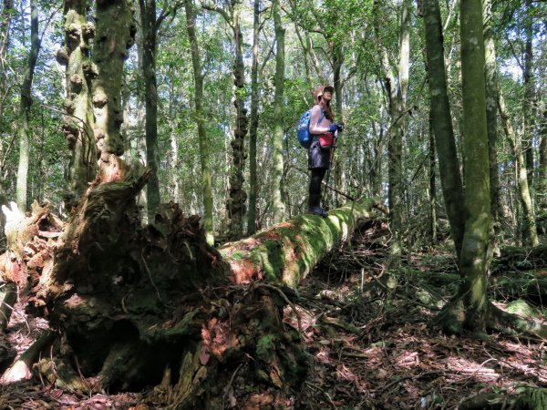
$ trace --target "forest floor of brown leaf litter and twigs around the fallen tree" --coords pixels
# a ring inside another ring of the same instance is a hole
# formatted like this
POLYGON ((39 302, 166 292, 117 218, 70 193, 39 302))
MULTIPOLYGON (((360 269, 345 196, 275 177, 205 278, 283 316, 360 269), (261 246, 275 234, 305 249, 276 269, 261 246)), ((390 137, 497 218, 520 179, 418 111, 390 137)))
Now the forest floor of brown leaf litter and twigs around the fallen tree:
MULTIPOLYGON (((378 236, 328 255, 285 308, 286 325, 300 328, 311 359, 294 408, 453 409, 473 395, 547 386, 542 341, 500 333, 479 340, 428 327, 455 290, 428 281, 456 272, 449 252, 413 253, 387 269, 387 236, 378 236)), ((509 302, 496 297, 502 308, 509 302)), ((16 305, 0 349, 20 354, 46 326, 16 305)), ((152 391, 84 396, 33 379, 0 385, 0 409, 147 410, 157 408, 152 391)))

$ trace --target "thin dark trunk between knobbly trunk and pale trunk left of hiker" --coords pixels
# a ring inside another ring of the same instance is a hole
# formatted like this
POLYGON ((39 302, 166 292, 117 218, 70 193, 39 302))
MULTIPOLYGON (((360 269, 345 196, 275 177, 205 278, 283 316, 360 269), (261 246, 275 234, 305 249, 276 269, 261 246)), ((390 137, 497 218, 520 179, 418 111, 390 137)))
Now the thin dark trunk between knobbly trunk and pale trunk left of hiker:
POLYGON ((256 231, 256 200, 258 183, 256 178, 256 133, 258 130, 258 44, 260 36, 260 0, 253 6, 253 66, 251 67, 251 127, 249 128, 249 210, 247 213, 247 235, 256 231))

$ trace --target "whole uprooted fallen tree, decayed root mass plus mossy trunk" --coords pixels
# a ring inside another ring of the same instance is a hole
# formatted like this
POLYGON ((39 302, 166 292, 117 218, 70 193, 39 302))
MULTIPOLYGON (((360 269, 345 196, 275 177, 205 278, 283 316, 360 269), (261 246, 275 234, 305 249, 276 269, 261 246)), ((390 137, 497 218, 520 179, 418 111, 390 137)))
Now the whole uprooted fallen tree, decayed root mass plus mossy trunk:
POLYGON ((52 363, 39 368, 86 393, 163 381, 160 407, 287 405, 307 356, 298 331, 284 324, 286 294, 259 280, 296 285, 366 208, 288 220, 226 245, 224 261, 199 217, 184 218, 177 204, 140 226, 135 197, 147 178, 95 181, 67 222, 53 269, 33 286, 32 305, 60 335, 52 363), (67 380, 47 370, 59 367, 67 380))

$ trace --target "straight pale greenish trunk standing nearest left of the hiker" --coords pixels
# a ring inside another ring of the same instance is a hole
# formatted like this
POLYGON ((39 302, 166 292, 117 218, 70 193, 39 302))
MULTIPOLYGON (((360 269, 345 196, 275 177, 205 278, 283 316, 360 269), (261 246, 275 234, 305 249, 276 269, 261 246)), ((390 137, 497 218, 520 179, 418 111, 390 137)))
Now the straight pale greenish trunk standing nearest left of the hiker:
POLYGON ((272 144, 272 208, 274 223, 284 220, 283 186, 283 106, 284 106, 284 26, 281 22, 279 0, 273 2, 275 26, 275 95, 274 95, 274 141, 272 144))

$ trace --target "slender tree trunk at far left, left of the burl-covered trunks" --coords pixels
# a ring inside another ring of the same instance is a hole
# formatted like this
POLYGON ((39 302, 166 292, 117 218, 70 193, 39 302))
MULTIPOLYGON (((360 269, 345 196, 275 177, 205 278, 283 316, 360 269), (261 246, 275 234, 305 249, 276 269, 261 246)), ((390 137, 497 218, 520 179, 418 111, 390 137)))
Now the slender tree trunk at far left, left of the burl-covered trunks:
POLYGON ((38 36, 38 3, 30 2, 30 51, 26 62, 25 78, 21 85, 21 101, 19 103, 19 115, 17 118, 17 134, 19 135, 19 167, 17 169, 17 206, 20 210, 26 210, 26 190, 28 189, 28 162, 30 146, 28 141, 28 118, 32 105, 32 80, 34 77, 36 60, 40 51, 40 38, 38 36))

